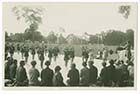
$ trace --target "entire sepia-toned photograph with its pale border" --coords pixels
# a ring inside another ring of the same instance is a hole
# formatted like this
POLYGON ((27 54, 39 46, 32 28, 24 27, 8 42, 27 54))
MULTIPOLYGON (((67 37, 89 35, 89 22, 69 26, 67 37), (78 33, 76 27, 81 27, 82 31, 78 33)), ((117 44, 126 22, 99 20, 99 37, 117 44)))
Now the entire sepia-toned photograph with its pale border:
POLYGON ((136 2, 2 7, 4 88, 136 88, 136 2))

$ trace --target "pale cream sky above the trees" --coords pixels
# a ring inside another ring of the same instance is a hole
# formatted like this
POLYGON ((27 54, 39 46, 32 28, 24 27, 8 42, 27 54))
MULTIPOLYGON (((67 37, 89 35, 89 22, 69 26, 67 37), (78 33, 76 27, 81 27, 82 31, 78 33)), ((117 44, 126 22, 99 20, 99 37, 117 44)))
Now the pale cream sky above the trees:
POLYGON ((42 24, 39 30, 47 36, 50 31, 65 34, 82 35, 84 32, 97 34, 109 29, 127 29, 137 31, 137 3, 3 3, 3 31, 8 33, 24 32, 27 24, 17 20, 12 8, 14 6, 44 8, 42 24), (128 19, 118 13, 120 5, 130 5, 131 12, 128 19))

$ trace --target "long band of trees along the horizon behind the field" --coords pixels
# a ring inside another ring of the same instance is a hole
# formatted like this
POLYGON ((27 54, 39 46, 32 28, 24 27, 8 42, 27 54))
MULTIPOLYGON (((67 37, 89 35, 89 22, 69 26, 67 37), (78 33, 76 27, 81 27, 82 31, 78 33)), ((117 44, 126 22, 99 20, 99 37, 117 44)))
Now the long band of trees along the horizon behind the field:
POLYGON ((123 45, 126 41, 130 41, 132 46, 134 46, 134 30, 128 29, 126 32, 119 30, 108 30, 106 32, 101 32, 100 34, 88 34, 88 39, 79 37, 74 34, 69 34, 66 37, 63 34, 56 34, 51 31, 46 37, 41 34, 40 31, 32 31, 26 29, 24 33, 8 34, 5 32, 5 40, 10 42, 24 42, 25 40, 34 41, 44 41, 49 44, 105 44, 105 45, 123 45))

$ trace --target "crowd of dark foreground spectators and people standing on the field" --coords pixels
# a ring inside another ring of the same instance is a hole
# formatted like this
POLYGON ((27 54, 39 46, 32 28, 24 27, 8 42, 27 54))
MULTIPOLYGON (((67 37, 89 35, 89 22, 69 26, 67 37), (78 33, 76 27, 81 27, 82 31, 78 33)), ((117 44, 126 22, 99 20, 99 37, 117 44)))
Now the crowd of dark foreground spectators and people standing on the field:
MULTIPOLYGON (((94 65, 95 62, 92 59, 89 59, 90 50, 87 50, 84 47, 82 48, 83 68, 81 70, 78 70, 74 63, 74 48, 69 47, 64 49, 66 67, 68 61, 71 60, 71 68, 67 73, 67 81, 65 83, 61 73, 62 67, 60 65, 57 65, 54 69, 49 67, 52 62, 52 57, 54 58, 54 61, 56 61, 59 52, 57 46, 50 48, 47 46, 28 48, 27 46, 20 46, 17 44, 15 48, 14 45, 6 45, 5 86, 134 86, 134 62, 131 59, 128 59, 126 62, 117 59, 108 61, 107 58, 104 58, 103 56, 101 63, 102 69, 101 72, 98 73, 98 68, 94 65), (21 57, 24 60, 18 61, 14 59, 14 52, 17 52, 18 54, 21 53, 21 57), (25 64, 28 62, 29 52, 32 54, 32 61, 30 62, 32 68, 29 69, 28 77, 25 64), (8 54, 10 54, 10 56, 8 56, 8 54), (41 72, 36 68, 38 62, 34 58, 35 54, 38 54, 40 66, 42 68, 41 72), (46 55, 49 60, 44 61, 46 55), (17 66, 18 62, 19 66, 17 66), (44 62, 46 65, 45 68, 43 68, 44 62)), ((105 53, 105 51, 103 51, 103 53, 105 53)), ((110 51, 110 53, 112 53, 112 51, 110 51)))

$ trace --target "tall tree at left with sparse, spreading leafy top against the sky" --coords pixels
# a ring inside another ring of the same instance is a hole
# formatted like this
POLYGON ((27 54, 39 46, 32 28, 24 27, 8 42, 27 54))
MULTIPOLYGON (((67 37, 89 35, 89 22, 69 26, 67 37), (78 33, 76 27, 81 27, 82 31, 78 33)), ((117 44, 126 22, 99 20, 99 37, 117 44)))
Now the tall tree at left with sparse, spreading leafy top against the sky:
POLYGON ((13 7, 13 13, 16 15, 17 20, 24 19, 25 23, 29 25, 25 29, 25 39, 30 39, 32 42, 37 40, 35 37, 41 37, 39 33, 38 36, 35 36, 39 27, 39 24, 42 23, 43 9, 42 8, 31 8, 31 7, 13 7), (27 35, 29 34, 29 35, 27 35))

